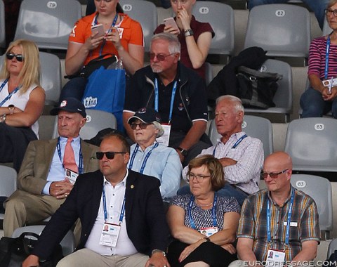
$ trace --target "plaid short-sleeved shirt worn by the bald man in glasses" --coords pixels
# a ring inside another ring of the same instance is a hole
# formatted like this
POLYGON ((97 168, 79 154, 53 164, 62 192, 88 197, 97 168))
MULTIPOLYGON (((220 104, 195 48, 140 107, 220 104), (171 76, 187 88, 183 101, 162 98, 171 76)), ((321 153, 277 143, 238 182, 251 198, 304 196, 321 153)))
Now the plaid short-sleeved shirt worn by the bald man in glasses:
MULTIPOLYGON (((300 252, 302 242, 308 240, 319 242, 320 235, 315 201, 296 188, 291 187, 291 190, 295 190, 295 195, 290 220, 289 247, 285 250, 285 261, 291 261, 300 252)), ((290 197, 289 194, 289 198, 280 207, 273 202, 269 191, 265 189, 250 195, 245 200, 242 206, 237 238, 246 237, 254 240, 253 252, 258 261, 267 259, 267 250, 270 248, 284 250, 290 197), (271 244, 267 241, 267 197, 270 199, 271 206, 271 244)))

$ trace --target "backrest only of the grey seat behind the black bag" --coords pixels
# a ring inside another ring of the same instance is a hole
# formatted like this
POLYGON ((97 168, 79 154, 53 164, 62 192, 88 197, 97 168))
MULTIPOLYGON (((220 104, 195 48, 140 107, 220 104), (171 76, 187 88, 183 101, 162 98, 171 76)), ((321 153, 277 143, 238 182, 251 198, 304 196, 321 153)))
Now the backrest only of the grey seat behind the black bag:
POLYGON ((277 108, 291 110, 293 105, 293 75, 291 66, 280 60, 268 59, 260 67, 260 71, 283 75, 283 78, 278 81, 279 88, 273 100, 277 108))

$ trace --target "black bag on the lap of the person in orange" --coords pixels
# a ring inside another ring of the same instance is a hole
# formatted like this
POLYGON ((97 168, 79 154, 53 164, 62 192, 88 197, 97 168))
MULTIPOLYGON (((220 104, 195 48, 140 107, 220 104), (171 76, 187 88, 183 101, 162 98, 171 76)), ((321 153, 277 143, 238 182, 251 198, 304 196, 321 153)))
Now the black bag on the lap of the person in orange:
POLYGON ((66 79, 72 79, 74 77, 86 77, 88 78, 91 73, 103 66, 105 69, 109 67, 112 63, 117 62, 118 58, 114 54, 104 54, 90 60, 88 64, 79 70, 76 74, 66 75, 66 79))

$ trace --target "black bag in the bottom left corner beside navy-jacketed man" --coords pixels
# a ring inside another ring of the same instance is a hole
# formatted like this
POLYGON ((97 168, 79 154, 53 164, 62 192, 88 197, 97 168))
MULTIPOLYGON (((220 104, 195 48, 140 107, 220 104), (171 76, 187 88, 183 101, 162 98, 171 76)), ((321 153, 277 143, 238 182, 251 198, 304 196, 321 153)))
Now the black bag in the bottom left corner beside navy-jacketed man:
MULTIPOLYGON (((22 266, 22 262, 32 254, 38 239, 39 235, 28 232, 22 233, 16 238, 2 237, 0 240, 0 267, 22 266)), ((54 267, 62 258, 62 247, 58 245, 53 250, 50 259, 41 260, 39 266, 54 267)))

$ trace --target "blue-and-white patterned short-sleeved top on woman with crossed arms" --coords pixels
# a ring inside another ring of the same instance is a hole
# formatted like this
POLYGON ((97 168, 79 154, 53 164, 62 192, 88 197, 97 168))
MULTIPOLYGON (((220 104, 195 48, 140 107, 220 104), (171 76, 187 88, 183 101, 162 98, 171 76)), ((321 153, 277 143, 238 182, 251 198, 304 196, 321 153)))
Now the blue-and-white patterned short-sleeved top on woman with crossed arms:
MULTIPOLYGON (((190 206, 192 194, 176 195, 171 201, 171 205, 182 207, 185 210, 185 226, 191 227, 190 218, 188 216, 188 208, 190 206)), ((234 197, 221 197, 218 195, 216 202, 216 223, 218 230, 223 230, 223 216, 227 212, 240 212, 240 206, 234 197)), ((208 228, 213 227, 212 207, 210 209, 201 209, 195 201, 191 209, 192 219, 194 220, 195 227, 208 228)))

